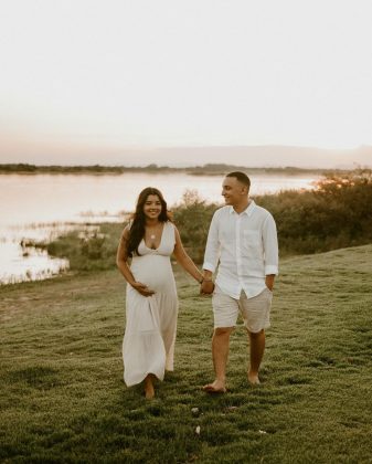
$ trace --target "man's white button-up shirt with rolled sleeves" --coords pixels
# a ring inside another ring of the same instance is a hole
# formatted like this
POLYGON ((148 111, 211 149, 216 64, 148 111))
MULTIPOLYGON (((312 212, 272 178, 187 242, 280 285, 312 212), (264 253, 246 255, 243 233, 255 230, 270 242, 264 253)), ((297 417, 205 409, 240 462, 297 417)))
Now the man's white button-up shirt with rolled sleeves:
POLYGON ((278 240, 274 218, 253 200, 242 213, 233 207, 215 211, 208 234, 203 268, 214 273, 215 284, 233 298, 247 298, 265 288, 265 276, 278 274, 278 240))

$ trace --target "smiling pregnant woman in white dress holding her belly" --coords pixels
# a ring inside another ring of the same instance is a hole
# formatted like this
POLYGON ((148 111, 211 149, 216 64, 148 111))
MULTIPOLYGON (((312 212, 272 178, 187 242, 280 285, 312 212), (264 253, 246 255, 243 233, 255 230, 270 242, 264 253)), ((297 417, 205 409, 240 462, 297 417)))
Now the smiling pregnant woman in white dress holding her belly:
POLYGON ((144 381, 147 399, 155 397, 155 378, 163 380, 164 371, 173 370, 178 296, 172 254, 195 281, 203 282, 161 192, 148 187, 138 197, 117 252, 118 268, 127 281, 124 380, 128 387, 144 381))

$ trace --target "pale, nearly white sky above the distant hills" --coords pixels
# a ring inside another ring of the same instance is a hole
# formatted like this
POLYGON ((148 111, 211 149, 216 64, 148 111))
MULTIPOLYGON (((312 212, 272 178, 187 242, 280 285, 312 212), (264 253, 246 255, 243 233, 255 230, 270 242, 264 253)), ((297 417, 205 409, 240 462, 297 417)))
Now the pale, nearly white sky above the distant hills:
POLYGON ((371 19, 371 0, 0 0, 0 162, 372 146, 371 19))

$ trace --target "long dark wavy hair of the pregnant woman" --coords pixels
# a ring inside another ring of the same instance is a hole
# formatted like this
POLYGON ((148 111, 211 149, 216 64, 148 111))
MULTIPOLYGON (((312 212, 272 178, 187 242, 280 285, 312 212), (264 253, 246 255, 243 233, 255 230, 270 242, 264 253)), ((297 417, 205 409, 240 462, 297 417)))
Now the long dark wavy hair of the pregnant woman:
POLYGON ((127 246, 128 256, 132 256, 134 253, 139 254, 138 245, 145 236, 146 215, 144 213, 144 205, 150 194, 156 194, 160 200, 161 212, 159 215, 159 221, 170 221, 170 215, 167 211, 167 202, 161 191, 156 189, 155 187, 146 187, 146 189, 144 189, 138 196, 136 212, 132 215, 132 223, 129 231, 129 240, 127 246))

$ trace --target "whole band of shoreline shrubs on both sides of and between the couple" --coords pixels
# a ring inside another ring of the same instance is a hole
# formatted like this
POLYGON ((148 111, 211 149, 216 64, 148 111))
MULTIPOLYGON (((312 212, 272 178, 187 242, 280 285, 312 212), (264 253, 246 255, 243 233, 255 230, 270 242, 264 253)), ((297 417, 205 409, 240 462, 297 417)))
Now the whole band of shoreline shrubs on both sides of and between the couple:
MULTIPOLYGON (((255 197, 276 220, 280 255, 319 253, 372 242, 372 170, 328 175, 313 190, 287 190, 255 197)), ((203 262, 209 226, 219 204, 208 203, 195 190, 187 190, 173 208, 173 220, 183 245, 195 263, 203 262)), ((115 266, 124 225, 99 224, 84 240, 71 232, 47 245, 52 255, 67 257, 71 268, 115 266)))

